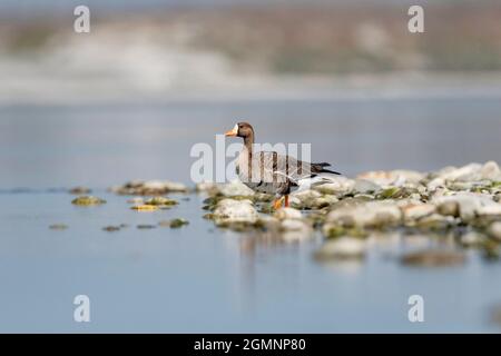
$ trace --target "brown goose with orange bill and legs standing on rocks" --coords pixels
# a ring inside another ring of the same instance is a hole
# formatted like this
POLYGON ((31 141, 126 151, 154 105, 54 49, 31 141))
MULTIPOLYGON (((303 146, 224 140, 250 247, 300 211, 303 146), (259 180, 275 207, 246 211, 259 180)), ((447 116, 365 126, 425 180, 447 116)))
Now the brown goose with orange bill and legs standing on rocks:
POLYGON ((274 208, 288 207, 288 195, 295 189, 328 180, 327 175, 340 175, 326 169, 330 164, 310 164, 276 151, 254 150, 254 129, 248 122, 238 122, 225 136, 242 137, 244 148, 238 155, 236 169, 239 179, 257 192, 275 195, 274 208))

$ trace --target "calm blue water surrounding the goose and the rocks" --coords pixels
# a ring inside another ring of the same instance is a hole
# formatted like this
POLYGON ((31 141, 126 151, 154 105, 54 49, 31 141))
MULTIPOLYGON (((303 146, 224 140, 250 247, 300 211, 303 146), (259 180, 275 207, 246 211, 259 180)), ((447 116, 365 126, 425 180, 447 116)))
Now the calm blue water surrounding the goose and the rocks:
MULTIPOLYGON (((258 141, 312 142, 347 176, 501 161, 499 98, 198 101, 0 108, 0 332, 499 332, 499 263, 403 267, 411 238, 377 244, 364 263, 318 264, 321 236, 265 244, 214 228, 203 197, 138 214, 106 188, 134 178, 189 184, 196 142, 237 118, 258 141), (108 202, 79 208, 62 191, 89 186, 108 202), (53 189, 51 189, 53 188, 53 189), (187 218, 181 229, 138 224, 187 218), (49 225, 63 222, 67 230, 49 225), (117 233, 108 225, 128 224, 117 233), (91 323, 73 322, 73 297, 91 323), (425 322, 407 320, 407 298, 425 322)), ((422 246, 420 246, 422 247, 422 246)))

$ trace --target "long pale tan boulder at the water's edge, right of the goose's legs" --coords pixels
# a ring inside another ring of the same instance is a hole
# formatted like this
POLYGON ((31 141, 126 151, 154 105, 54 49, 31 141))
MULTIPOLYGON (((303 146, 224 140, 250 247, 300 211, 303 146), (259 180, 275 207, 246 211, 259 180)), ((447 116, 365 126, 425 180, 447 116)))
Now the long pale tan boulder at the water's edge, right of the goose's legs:
POLYGON ((400 208, 392 201, 367 201, 335 208, 328 212, 326 222, 344 227, 394 226, 402 220, 400 208))

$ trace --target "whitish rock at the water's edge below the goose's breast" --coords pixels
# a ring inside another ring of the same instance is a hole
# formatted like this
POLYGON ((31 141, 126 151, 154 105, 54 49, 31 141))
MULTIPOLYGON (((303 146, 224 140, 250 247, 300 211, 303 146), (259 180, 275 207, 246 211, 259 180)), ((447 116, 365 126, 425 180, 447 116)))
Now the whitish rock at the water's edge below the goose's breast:
POLYGON ((229 222, 255 224, 258 214, 250 200, 223 199, 213 212, 216 225, 229 222))

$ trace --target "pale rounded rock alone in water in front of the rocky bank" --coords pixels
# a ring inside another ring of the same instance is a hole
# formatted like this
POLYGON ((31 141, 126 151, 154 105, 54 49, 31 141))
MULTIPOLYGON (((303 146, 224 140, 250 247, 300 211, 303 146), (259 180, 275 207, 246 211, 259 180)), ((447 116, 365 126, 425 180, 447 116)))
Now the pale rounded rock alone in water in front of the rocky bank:
POLYGON ((366 244, 353 237, 340 237, 327 240, 316 253, 315 259, 360 259, 365 256, 366 244))

